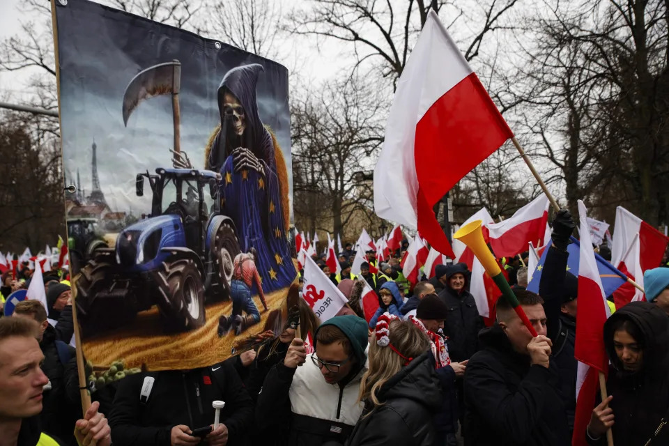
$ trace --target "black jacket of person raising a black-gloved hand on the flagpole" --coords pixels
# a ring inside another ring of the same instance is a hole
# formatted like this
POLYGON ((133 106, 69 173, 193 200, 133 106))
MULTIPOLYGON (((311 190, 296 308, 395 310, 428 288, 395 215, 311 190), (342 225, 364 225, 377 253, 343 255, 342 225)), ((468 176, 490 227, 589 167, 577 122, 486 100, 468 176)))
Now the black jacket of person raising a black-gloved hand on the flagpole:
POLYGON ((548 337, 553 341, 553 361, 560 374, 564 407, 567 408, 569 429, 574 429, 574 413, 576 411, 576 372, 578 362, 574 357, 576 346, 576 319, 562 313, 560 307, 564 302, 567 290, 564 288, 564 277, 567 274, 569 253, 555 246, 548 248, 544 270, 539 282, 539 295, 544 299, 546 313, 546 329, 548 337))

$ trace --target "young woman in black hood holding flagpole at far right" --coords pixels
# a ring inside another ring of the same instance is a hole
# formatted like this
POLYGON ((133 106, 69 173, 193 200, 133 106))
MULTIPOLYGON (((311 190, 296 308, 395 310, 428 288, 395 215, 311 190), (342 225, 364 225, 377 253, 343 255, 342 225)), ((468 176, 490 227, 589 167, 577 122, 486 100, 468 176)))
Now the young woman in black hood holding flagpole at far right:
POLYGON ((594 410, 586 440, 606 445, 669 445, 669 318, 649 302, 630 302, 604 323, 609 397, 594 410))

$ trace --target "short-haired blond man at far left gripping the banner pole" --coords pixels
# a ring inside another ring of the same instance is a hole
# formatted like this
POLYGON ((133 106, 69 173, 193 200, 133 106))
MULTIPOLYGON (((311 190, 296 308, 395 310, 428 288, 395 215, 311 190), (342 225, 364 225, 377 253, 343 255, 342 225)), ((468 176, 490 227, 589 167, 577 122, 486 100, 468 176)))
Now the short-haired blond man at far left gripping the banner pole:
MULTIPOLYGON (((0 443, 7 446, 65 446, 42 429, 40 412, 49 378, 40 369, 44 355, 31 318, 0 318, 0 443)), ((83 419, 70 424, 80 445, 112 444, 100 404, 91 404, 83 419), (84 441, 85 440, 85 441, 84 441)))

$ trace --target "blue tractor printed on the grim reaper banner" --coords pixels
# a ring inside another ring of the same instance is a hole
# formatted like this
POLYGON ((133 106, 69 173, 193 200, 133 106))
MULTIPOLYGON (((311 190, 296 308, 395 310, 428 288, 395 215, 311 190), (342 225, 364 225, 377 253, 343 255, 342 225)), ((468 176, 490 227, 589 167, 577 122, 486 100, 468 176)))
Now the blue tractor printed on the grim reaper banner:
POLYGON ((220 174, 156 169, 137 175, 153 192, 151 215, 123 229, 114 248, 102 248, 75 277, 84 335, 126 325, 157 305, 168 332, 200 328, 205 302, 229 298, 236 229, 221 214, 220 174))

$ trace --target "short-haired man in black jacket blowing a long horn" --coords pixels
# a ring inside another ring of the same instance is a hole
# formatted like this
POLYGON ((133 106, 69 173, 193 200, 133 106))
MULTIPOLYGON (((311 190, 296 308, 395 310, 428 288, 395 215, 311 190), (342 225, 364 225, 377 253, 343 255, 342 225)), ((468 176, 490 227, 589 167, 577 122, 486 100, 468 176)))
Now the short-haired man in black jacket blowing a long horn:
POLYGON ((539 335, 532 337, 504 296, 498 299, 497 323, 480 332, 482 350, 465 371, 465 444, 571 445, 544 301, 530 291, 516 297, 539 335))

